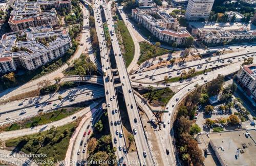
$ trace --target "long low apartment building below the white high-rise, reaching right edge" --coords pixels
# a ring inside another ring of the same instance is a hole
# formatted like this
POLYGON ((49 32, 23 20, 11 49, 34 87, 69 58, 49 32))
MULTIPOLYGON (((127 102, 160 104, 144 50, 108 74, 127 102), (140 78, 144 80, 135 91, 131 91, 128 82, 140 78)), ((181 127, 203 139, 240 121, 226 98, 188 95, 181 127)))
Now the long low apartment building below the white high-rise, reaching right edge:
POLYGON ((256 31, 224 30, 221 27, 199 28, 193 31, 199 40, 205 45, 218 45, 224 41, 253 41, 256 39, 256 31))

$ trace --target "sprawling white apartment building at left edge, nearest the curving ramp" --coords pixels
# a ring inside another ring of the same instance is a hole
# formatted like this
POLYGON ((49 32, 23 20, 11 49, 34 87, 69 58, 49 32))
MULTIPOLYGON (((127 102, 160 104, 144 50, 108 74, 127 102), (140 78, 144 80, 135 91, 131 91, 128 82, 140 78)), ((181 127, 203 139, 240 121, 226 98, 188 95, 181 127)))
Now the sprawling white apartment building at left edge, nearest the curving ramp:
POLYGON ((0 73, 37 69, 63 56, 71 46, 66 31, 53 31, 49 25, 4 34, 0 41, 0 73), (41 44, 42 38, 51 41, 41 44))

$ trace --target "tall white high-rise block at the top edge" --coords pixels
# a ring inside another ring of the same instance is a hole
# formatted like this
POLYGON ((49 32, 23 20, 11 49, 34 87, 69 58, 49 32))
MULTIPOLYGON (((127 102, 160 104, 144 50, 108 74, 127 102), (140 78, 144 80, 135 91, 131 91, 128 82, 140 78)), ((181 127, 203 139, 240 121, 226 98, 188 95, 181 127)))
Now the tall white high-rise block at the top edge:
POLYGON ((189 0, 185 17, 188 21, 198 21, 200 18, 208 19, 214 0, 189 0))

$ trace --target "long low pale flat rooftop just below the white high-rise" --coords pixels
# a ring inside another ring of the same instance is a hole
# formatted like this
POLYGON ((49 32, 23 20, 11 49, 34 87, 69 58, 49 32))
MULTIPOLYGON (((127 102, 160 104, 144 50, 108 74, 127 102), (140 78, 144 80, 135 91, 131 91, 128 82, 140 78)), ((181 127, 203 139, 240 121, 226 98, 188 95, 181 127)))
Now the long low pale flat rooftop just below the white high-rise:
POLYGON ((189 22, 193 29, 222 27, 223 30, 256 30, 256 26, 243 22, 189 22))

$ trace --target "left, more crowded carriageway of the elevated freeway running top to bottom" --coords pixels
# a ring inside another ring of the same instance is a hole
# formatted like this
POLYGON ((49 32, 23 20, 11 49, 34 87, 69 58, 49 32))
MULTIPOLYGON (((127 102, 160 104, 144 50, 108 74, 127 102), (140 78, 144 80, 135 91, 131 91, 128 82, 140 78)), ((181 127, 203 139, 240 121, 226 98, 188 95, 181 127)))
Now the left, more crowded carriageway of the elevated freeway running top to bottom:
POLYGON ((104 92, 105 99, 108 107, 108 118, 110 122, 110 131, 112 135, 113 147, 117 149, 116 156, 120 162, 127 161, 127 148, 125 139, 123 136, 123 129, 121 123, 121 116, 119 113, 119 106, 117 102, 117 95, 113 80, 112 66, 110 63, 110 57, 108 48, 106 46, 102 17, 100 13, 100 5, 103 5, 101 1, 94 0, 93 10, 95 18, 95 29, 97 32, 99 46, 100 46, 100 57, 101 65, 103 71, 103 81, 104 81, 104 92))

